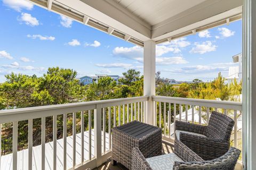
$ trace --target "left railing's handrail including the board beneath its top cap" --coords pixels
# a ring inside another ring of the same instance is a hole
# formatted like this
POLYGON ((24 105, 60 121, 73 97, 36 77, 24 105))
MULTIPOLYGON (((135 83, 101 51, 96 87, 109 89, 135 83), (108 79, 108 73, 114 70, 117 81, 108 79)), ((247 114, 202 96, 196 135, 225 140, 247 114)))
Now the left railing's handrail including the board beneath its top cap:
POLYGON ((26 107, 26 108, 15 108, 6 109, 0 111, 0 124, 9 123, 13 121, 23 121, 28 119, 40 118, 42 116, 54 116, 63 113, 74 113, 81 111, 88 111, 96 109, 97 105, 101 107, 110 107, 116 105, 123 105, 127 103, 135 103, 141 101, 147 101, 148 96, 141 97, 130 97, 130 98, 119 98, 119 99, 108 99, 98 101, 85 101, 79 103, 49 105, 49 106, 37 106, 37 107, 26 107))

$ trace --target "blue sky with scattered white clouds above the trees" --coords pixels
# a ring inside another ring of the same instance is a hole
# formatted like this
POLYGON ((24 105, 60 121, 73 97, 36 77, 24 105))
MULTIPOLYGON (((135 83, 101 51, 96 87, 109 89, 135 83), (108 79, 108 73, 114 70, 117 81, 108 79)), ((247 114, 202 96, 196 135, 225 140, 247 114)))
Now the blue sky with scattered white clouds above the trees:
MULTIPOLYGON (((38 76, 48 67, 74 69, 77 77, 97 73, 143 73, 143 49, 25 0, 0 4, 0 82, 14 72, 38 76)), ((224 76, 242 52, 242 21, 157 45, 156 70, 175 80, 224 76)))

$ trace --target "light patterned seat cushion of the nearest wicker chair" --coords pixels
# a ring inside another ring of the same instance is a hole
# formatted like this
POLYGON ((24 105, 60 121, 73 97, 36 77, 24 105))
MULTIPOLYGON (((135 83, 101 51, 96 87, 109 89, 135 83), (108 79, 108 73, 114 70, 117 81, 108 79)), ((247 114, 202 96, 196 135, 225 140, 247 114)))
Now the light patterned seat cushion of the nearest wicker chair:
POLYGON ((155 157, 147 158, 146 160, 153 170, 172 170, 174 162, 183 161, 174 153, 155 156, 155 157))

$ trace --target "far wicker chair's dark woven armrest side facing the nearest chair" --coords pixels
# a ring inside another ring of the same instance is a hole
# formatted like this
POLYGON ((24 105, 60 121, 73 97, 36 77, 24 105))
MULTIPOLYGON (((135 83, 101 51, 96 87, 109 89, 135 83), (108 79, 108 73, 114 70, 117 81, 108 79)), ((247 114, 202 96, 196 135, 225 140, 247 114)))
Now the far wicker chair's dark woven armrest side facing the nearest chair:
POLYGON ((180 142, 204 160, 212 160, 224 155, 230 146, 229 143, 220 139, 210 139, 188 133, 180 133, 180 142))

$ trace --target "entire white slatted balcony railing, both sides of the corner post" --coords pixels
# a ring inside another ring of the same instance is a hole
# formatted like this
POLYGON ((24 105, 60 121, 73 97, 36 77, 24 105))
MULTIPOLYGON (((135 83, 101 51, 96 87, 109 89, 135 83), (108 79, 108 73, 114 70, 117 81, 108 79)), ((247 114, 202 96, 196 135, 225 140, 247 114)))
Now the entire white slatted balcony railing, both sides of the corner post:
POLYGON ((231 143, 241 148, 242 103, 161 96, 153 96, 152 100, 151 113, 146 113, 145 109, 148 96, 0 111, 0 123, 12 123, 13 133, 12 153, 1 157, 1 169, 93 169, 105 165, 111 157, 111 128, 133 120, 147 122, 147 116, 152 116, 154 125, 162 128, 163 143, 168 144, 166 151, 173 143, 175 120, 207 124, 213 110, 234 118, 231 143), (73 133, 68 137, 67 114, 73 115, 73 133), (87 114, 88 120, 84 120, 84 116, 77 120, 78 114, 87 114), (57 116, 63 116, 63 124, 58 127, 63 128, 61 139, 57 137, 57 116), (46 117, 53 117, 50 142, 45 142, 46 117), (42 120, 41 145, 33 147, 33 120, 36 118, 42 120), (18 151, 20 121, 28 121, 28 148, 18 151), (85 121, 88 130, 84 129, 85 121), (78 124, 81 132, 77 133, 78 124))

